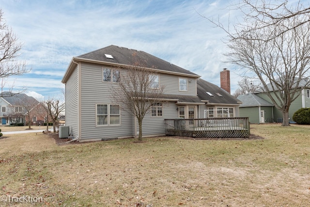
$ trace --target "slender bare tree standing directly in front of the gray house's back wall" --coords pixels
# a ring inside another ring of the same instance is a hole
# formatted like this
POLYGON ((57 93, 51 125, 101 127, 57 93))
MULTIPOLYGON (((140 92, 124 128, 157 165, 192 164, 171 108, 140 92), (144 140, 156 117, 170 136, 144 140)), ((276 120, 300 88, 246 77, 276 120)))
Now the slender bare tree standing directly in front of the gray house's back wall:
POLYGON ((112 87, 112 99, 120 104, 124 111, 132 113, 138 120, 139 136, 142 141, 142 121, 153 106, 162 102, 163 86, 158 84, 155 68, 147 68, 146 62, 136 53, 132 56, 130 66, 118 68, 122 70, 118 84, 112 87))

